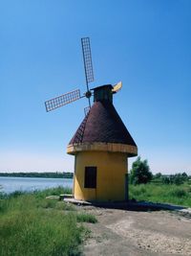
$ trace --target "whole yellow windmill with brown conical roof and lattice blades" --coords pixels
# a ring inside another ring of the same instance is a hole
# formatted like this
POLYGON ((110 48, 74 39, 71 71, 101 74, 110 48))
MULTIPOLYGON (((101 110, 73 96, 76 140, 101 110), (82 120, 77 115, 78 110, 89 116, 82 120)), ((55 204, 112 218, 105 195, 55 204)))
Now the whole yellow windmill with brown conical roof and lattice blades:
MULTIPOLYGON (((123 201, 127 199, 128 158, 138 155, 138 147, 113 105, 113 95, 121 88, 106 84, 91 91, 94 81, 90 40, 82 38, 89 110, 67 152, 74 155, 74 198, 88 201, 123 201), (93 93, 92 93, 93 91, 93 93), (90 97, 94 94, 94 105, 90 97)), ((45 103, 47 111, 82 98, 79 90, 45 103)))

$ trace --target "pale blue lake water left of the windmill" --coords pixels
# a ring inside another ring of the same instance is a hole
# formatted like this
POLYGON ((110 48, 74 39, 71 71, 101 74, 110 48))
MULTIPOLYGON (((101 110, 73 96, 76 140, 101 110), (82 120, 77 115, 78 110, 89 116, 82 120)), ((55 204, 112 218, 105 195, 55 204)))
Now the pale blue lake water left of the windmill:
POLYGON ((12 193, 53 188, 57 186, 73 187, 73 178, 44 178, 44 177, 7 177, 0 176, 0 192, 12 193))

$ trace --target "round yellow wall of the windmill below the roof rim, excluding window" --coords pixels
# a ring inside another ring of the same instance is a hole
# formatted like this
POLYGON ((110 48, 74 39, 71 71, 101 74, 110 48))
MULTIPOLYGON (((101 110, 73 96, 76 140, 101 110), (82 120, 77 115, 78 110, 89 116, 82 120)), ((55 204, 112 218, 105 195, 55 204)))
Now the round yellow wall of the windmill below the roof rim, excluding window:
POLYGON ((74 198, 113 201, 125 199, 127 153, 81 151, 75 154, 74 198), (96 189, 84 188, 86 166, 96 166, 96 189))

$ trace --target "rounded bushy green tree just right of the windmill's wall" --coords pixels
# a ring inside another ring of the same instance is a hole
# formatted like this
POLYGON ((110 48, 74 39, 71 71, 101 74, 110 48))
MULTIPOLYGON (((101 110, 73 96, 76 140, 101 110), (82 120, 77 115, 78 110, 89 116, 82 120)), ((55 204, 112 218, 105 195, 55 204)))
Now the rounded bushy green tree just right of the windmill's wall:
POLYGON ((138 156, 137 160, 132 165, 132 170, 130 171, 130 182, 132 184, 141 184, 151 181, 153 175, 150 172, 150 168, 147 160, 140 160, 138 156))

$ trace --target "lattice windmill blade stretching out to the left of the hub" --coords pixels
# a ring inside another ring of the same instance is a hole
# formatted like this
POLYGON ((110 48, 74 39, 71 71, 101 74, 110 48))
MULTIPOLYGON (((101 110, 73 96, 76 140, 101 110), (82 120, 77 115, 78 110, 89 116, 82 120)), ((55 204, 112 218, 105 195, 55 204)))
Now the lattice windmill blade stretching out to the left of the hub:
POLYGON ((62 105, 67 105, 73 103, 74 101, 79 100, 85 96, 80 96, 80 90, 74 90, 72 92, 65 93, 61 96, 55 97, 49 101, 45 102, 47 112, 52 111, 53 109, 60 107, 62 105))

